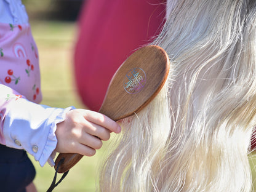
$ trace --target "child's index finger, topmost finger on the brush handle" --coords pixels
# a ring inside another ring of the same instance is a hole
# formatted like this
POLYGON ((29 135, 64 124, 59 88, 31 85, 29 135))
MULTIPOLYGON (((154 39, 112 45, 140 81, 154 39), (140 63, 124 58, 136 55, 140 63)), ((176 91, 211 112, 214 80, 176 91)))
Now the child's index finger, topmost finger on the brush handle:
POLYGON ((112 119, 108 118, 104 114, 97 113, 95 111, 88 110, 79 110, 81 114, 83 114, 84 118, 87 121, 93 122, 94 124, 98 124, 99 126, 105 127, 106 129, 119 134, 121 132, 121 127, 119 124, 112 119))

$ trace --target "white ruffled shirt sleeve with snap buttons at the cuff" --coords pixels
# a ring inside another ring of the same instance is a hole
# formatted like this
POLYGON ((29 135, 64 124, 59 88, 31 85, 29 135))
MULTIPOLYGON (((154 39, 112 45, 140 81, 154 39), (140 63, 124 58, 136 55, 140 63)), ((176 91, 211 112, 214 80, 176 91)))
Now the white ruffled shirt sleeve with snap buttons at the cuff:
POLYGON ((1 118, 2 144, 26 150, 41 166, 47 161, 54 166, 57 124, 64 121, 66 113, 74 107, 63 109, 39 105, 22 95, 17 96, 9 87, 3 89, 0 84, 0 88, 5 92, 0 93, 0 111, 4 111, 1 118))

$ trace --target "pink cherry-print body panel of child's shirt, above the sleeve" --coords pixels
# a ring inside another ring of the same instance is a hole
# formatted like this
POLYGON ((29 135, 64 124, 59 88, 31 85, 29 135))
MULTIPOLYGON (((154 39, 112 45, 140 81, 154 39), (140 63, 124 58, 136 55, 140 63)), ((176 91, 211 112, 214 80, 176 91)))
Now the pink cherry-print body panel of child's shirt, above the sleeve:
POLYGON ((30 25, 0 23, 0 50, 0 82, 32 102, 41 102, 38 50, 30 25))

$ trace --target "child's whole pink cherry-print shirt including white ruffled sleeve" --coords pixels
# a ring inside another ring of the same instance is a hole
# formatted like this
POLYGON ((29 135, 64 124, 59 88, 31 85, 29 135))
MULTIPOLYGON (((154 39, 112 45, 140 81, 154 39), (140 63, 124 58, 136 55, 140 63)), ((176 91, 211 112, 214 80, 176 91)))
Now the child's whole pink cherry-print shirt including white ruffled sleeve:
POLYGON ((73 107, 39 105, 40 81, 25 7, 20 0, 0 0, 0 143, 26 150, 41 166, 54 165, 55 130, 73 107))

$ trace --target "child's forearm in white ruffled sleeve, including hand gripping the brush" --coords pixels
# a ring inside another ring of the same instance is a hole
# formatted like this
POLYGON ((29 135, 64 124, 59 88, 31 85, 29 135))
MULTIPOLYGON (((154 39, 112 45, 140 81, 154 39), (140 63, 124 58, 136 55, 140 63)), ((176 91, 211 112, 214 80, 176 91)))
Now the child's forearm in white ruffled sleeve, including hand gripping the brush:
POLYGON ((102 145, 97 137, 108 140, 111 131, 120 132, 119 125, 102 114, 38 105, 2 84, 0 90, 0 142, 28 151, 41 166, 47 160, 54 164, 56 146, 61 153, 90 156, 102 145))

